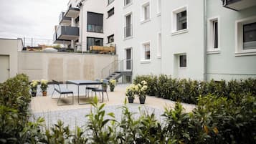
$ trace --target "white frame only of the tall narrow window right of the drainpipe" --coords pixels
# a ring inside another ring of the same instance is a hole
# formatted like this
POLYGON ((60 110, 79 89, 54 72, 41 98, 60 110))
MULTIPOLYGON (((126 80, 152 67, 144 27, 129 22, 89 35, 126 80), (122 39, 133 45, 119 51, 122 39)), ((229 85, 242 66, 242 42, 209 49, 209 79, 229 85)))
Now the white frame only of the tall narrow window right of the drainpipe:
POLYGON ((207 53, 208 54, 215 54, 220 52, 220 18, 219 16, 211 17, 207 20, 207 53), (217 48, 214 47, 214 21, 217 21, 217 48))

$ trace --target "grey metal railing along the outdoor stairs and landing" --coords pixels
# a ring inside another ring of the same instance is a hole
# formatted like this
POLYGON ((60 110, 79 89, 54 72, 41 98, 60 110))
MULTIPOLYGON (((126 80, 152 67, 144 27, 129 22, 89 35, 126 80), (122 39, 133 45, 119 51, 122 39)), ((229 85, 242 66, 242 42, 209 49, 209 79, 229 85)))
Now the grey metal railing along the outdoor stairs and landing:
POLYGON ((123 59, 123 60, 116 59, 101 70, 101 77, 104 79, 115 72, 132 72, 132 70, 133 70, 132 59, 123 59))

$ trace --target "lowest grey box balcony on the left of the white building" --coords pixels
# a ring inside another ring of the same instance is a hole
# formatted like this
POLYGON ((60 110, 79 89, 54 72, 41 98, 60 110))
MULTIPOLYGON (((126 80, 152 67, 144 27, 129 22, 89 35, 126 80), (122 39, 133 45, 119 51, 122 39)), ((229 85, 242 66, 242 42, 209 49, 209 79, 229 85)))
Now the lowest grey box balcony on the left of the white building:
POLYGON ((79 38, 79 28, 69 26, 59 26, 56 30, 57 40, 77 40, 79 38))

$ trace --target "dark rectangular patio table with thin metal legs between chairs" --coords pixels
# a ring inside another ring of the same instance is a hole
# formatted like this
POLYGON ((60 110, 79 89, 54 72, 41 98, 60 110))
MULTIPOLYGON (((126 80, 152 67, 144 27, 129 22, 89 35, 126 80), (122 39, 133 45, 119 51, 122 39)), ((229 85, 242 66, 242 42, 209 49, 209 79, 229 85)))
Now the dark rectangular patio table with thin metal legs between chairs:
MULTIPOLYGON (((74 84, 77 85, 77 92, 78 92, 78 104, 79 105, 85 105, 90 103, 80 103, 79 102, 79 86, 80 85, 103 85, 103 82, 95 81, 95 80, 67 80, 67 84, 74 84)), ((103 92, 102 92, 103 95, 103 92)), ((103 102, 104 99, 102 99, 103 102)))

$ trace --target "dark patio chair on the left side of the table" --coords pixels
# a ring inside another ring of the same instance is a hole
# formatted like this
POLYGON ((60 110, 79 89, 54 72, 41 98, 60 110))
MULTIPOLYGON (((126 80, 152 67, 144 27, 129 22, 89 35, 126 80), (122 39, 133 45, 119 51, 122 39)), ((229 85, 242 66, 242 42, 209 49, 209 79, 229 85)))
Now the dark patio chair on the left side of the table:
POLYGON ((54 90, 52 92, 52 95, 54 94, 55 91, 60 94, 60 97, 58 98, 57 105, 73 105, 74 104, 74 92, 71 90, 67 90, 67 88, 65 88, 65 87, 60 87, 60 82, 57 82, 56 80, 52 80, 52 83, 54 85, 54 90), (56 85, 57 85, 57 87, 55 87, 56 85), (62 95, 69 95, 69 94, 72 94, 72 103, 59 104, 62 95))

